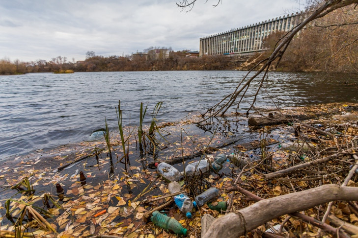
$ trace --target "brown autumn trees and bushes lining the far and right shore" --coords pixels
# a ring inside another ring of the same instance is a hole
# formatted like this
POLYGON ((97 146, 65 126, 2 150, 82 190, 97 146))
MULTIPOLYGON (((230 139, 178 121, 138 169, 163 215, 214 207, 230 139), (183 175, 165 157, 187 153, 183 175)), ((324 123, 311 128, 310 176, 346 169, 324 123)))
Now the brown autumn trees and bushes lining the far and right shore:
MULTIPOLYGON (((312 8, 315 6, 313 5, 312 8)), ((311 22, 288 45, 278 71, 328 71, 358 73, 358 9, 354 5, 339 8, 311 22)), ((50 61, 32 62, 0 60, 0 74, 58 71, 181 71, 181 70, 249 70, 267 58, 286 32, 275 32, 264 40, 266 51, 253 55, 240 65, 238 58, 224 55, 186 57, 187 51, 150 47, 143 53, 123 56, 96 55, 87 51, 83 61, 68 61, 57 56, 50 61)))

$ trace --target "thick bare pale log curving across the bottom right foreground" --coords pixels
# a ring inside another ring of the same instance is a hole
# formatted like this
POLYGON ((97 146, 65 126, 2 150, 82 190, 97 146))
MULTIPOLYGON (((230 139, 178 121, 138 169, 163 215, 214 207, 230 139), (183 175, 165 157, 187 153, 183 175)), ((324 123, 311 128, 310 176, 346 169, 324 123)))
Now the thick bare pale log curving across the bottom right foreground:
POLYGON ((275 217, 303 211, 336 200, 357 201, 358 188, 330 184, 265 199, 239 211, 221 216, 201 237, 236 238, 275 217))

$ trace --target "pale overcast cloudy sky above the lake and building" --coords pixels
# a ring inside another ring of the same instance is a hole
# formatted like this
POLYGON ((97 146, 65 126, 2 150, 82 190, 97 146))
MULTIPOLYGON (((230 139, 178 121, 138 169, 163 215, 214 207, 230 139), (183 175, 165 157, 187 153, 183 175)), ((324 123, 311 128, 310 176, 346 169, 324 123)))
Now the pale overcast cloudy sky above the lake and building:
POLYGON ((199 49, 199 38, 296 12, 299 0, 0 0, 0 59, 83 60, 151 46, 199 49))

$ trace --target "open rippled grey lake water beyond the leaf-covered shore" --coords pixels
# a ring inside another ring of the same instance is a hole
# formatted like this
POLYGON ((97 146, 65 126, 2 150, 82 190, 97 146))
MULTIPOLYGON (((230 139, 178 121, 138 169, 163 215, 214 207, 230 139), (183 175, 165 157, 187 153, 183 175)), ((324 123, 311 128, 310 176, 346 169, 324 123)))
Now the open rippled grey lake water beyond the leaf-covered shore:
MULTIPOLYGON (((180 120, 203 112, 230 94, 244 71, 30 73, 0 77, 0 160, 36 149, 90 140, 104 126, 116 125, 114 107, 121 100, 123 123, 138 124, 140 102, 151 112, 163 101, 158 119, 180 120)), ((270 72, 257 107, 304 106, 324 102, 357 102, 357 87, 328 81, 316 73, 270 72)), ((358 82, 357 78, 349 78, 358 82)), ((255 86, 254 84, 251 84, 255 86)), ((252 100, 255 90, 245 97, 252 100)), ((241 112, 248 108, 241 106, 241 112)), ((235 108, 234 108, 235 109, 235 108)), ((233 109, 233 110, 234 110, 233 109)), ((150 116, 146 118, 148 123, 150 116)), ((229 128, 227 128, 229 129, 229 128)))

